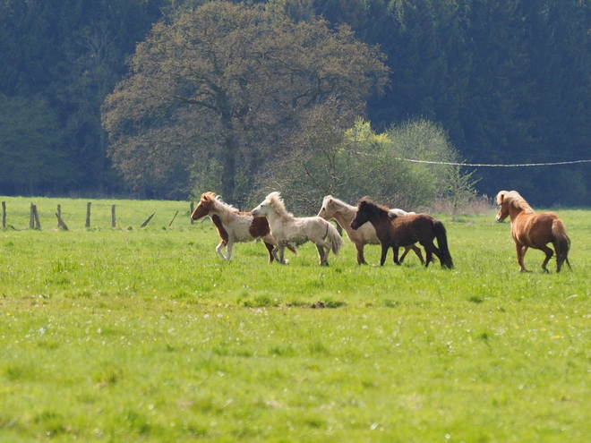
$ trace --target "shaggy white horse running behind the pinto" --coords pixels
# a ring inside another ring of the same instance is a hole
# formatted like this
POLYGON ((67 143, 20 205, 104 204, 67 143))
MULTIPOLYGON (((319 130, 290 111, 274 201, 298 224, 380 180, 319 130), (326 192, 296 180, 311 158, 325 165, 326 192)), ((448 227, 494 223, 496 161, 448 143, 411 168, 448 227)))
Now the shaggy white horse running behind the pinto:
POLYGON ((277 240, 272 253, 279 263, 285 264, 286 247, 297 246, 308 241, 316 245, 320 264, 328 266, 329 253, 338 255, 343 239, 337 228, 322 217, 294 217, 287 212, 280 192, 270 192, 259 206, 252 210, 254 216, 265 216, 269 220, 271 234, 277 240))

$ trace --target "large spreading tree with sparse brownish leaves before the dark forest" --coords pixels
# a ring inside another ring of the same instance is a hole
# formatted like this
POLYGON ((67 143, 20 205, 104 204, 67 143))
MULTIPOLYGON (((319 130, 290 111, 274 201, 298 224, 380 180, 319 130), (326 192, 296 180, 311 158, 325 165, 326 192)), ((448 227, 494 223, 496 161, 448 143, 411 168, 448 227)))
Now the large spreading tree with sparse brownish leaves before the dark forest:
MULTIPOLYGON (((314 106, 363 113, 386 81, 380 53, 347 26, 290 21, 261 5, 211 2, 154 26, 105 102, 111 156, 138 187, 175 186, 218 168, 242 201, 314 106)), ((197 183, 199 185, 199 183, 197 183)))

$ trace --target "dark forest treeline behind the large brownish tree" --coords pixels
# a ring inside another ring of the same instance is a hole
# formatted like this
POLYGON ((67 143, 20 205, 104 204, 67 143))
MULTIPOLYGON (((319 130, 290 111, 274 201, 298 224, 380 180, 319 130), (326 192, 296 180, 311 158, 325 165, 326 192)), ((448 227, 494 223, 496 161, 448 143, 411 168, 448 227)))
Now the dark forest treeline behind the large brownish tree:
MULTIPOLYGON (((101 106, 153 23, 204 2, 3 0, 0 193, 129 193, 107 156, 101 106)), ((373 128, 424 118, 471 163, 589 158, 591 2, 270 0, 295 21, 322 16, 387 55, 390 82, 367 106, 373 128)), ((480 168, 489 195, 589 205, 591 166, 480 168)), ((144 186, 144 197, 176 197, 144 186)))

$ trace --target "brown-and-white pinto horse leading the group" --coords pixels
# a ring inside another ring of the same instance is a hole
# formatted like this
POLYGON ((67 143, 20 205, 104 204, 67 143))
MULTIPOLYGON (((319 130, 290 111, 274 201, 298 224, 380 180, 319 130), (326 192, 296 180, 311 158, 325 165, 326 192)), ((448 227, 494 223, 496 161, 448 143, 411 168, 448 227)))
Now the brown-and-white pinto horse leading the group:
MULTIPOLYGON (((221 200, 221 197, 213 192, 203 192, 197 208, 193 210, 191 218, 199 220, 210 216, 211 221, 218 229, 221 242, 216 247, 222 260, 232 258, 234 243, 252 242, 261 238, 269 252, 269 262, 274 260, 272 254, 277 242, 270 234, 270 227, 265 217, 253 217, 250 212, 240 212, 221 200), (224 255, 226 248, 226 255, 224 255)), ((295 253, 295 249, 291 249, 295 253)))

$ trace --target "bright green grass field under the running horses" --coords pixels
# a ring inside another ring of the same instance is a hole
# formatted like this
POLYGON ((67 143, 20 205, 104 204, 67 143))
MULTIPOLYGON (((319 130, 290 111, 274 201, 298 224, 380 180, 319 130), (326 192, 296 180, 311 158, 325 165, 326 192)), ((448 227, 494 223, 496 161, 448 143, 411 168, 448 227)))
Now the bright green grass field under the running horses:
POLYGON ((492 210, 436 215, 452 270, 412 253, 360 267, 348 242, 321 268, 310 244, 287 266, 261 243, 219 260, 187 202, 93 201, 87 229, 87 200, 0 200, 0 441, 591 435, 591 211, 556 210, 572 269, 545 275, 540 251, 518 272, 492 210), (23 229, 31 202, 40 231, 23 229))

